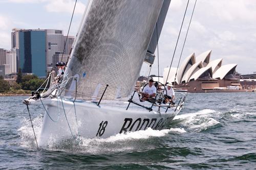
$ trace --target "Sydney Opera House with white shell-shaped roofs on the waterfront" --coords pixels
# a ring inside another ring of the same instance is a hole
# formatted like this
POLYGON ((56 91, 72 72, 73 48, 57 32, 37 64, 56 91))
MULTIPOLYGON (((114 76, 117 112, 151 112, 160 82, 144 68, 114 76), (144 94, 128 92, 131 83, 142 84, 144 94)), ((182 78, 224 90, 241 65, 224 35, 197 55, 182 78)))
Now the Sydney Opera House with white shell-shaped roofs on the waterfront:
MULTIPOLYGON (((167 82, 176 89, 190 92, 210 92, 223 89, 240 89, 239 79, 234 76, 237 64, 222 65, 222 59, 210 61, 211 50, 199 56, 188 56, 178 68, 171 68, 167 82), (177 76, 175 78, 177 71, 177 76)), ((163 82, 166 82, 169 68, 164 69, 163 82)))

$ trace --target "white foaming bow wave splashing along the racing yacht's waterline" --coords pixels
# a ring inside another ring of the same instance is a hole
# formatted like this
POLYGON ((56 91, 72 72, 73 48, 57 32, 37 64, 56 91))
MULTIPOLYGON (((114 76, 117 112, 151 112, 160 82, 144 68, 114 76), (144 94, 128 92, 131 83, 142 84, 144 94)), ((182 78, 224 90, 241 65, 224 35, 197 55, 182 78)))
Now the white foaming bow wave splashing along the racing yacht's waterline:
MULTIPOLYGON (((38 116, 32 120, 37 141, 40 140, 40 130, 42 126, 42 117, 38 116)), ((19 135, 22 138, 20 145, 25 148, 36 148, 33 130, 31 123, 28 119, 23 120, 22 127, 18 129, 19 135)), ((92 138, 87 139, 83 137, 77 137, 65 139, 62 141, 55 140, 54 136, 50 137, 48 141, 47 150, 52 151, 68 151, 68 152, 89 152, 100 153, 102 151, 114 152, 134 149, 134 143, 143 142, 143 140, 151 140, 152 138, 162 137, 168 133, 185 133, 186 131, 181 128, 170 128, 164 130, 153 130, 148 128, 146 130, 129 132, 126 134, 116 134, 108 138, 92 138)))

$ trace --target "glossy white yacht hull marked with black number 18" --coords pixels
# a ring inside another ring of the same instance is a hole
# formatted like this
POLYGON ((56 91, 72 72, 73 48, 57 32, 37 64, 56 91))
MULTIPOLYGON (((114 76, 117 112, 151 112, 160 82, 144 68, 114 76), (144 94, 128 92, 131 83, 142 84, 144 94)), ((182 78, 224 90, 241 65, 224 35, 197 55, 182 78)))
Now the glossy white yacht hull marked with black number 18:
MULTIPOLYGON (((52 141, 58 142, 78 136, 106 138, 126 131, 145 130, 148 127, 156 130, 165 129, 181 109, 180 106, 177 109, 173 107, 165 113, 166 107, 161 107, 158 112, 154 110, 158 110, 159 107, 154 106, 150 112, 142 107, 136 107, 133 103, 126 110, 128 102, 113 106, 100 104, 100 107, 92 102, 73 103, 49 98, 42 102, 48 113, 44 116, 38 141, 41 147, 52 141)), ((148 106, 151 106, 151 103, 148 103, 148 106)))

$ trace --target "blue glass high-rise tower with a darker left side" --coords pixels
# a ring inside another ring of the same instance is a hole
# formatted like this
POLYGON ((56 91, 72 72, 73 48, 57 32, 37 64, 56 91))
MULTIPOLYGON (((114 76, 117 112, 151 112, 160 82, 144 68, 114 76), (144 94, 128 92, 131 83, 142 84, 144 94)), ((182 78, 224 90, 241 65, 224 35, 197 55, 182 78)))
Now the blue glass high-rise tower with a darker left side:
POLYGON ((46 77, 46 31, 19 30, 19 68, 23 72, 33 73, 38 77, 46 77))

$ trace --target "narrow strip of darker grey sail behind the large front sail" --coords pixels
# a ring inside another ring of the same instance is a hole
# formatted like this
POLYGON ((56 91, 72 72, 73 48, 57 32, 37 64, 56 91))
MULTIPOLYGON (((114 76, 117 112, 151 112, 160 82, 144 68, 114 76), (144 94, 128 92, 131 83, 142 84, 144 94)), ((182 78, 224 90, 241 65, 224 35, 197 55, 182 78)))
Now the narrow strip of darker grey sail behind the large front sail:
POLYGON ((155 50, 157 47, 157 40, 160 37, 161 31, 163 28, 163 23, 164 23, 166 14, 168 12, 169 5, 170 5, 170 0, 164 0, 159 17, 157 19, 157 24, 155 26, 153 35, 150 40, 150 44, 148 45, 148 48, 147 48, 147 53, 146 53, 146 57, 144 60, 145 62, 147 62, 149 64, 154 63, 154 59, 155 59, 154 53, 155 53, 155 50))

